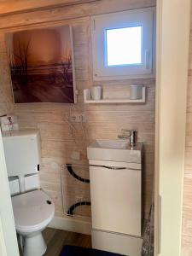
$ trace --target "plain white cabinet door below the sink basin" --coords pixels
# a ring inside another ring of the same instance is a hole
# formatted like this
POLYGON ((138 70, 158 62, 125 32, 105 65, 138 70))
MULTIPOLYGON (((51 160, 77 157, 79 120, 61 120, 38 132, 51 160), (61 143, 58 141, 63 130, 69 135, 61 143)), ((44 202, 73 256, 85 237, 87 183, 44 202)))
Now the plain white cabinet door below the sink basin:
POLYGON ((93 229, 141 236, 141 176, 138 170, 90 166, 93 229))

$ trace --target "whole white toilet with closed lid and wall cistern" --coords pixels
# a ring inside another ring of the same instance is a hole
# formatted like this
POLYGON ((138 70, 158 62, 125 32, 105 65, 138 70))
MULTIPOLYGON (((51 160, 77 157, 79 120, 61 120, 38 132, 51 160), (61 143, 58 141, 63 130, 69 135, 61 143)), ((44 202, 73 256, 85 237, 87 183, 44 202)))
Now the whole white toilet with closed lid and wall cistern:
POLYGON ((40 190, 40 137, 38 131, 3 133, 9 187, 15 216, 15 228, 22 237, 24 256, 42 256, 46 244, 42 236, 54 218, 55 205, 40 190))

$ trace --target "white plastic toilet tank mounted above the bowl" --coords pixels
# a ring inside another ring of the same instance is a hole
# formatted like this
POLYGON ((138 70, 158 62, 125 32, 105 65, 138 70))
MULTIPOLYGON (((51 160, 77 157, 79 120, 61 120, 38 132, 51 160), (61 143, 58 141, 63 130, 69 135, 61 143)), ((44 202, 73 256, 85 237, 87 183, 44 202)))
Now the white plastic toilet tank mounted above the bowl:
POLYGON ((9 177, 24 177, 39 171, 39 131, 11 131, 11 134, 6 131, 3 133, 3 148, 9 177))

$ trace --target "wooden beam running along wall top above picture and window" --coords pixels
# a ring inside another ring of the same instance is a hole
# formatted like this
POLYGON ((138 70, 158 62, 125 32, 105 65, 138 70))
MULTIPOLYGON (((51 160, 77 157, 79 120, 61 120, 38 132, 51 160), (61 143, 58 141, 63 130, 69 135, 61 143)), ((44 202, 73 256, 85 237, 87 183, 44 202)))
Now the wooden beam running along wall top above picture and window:
POLYGON ((101 0, 55 9, 45 9, 24 14, 0 17, 0 28, 34 25, 36 23, 70 20, 90 15, 99 15, 126 9, 138 9, 155 6, 155 0, 101 0))

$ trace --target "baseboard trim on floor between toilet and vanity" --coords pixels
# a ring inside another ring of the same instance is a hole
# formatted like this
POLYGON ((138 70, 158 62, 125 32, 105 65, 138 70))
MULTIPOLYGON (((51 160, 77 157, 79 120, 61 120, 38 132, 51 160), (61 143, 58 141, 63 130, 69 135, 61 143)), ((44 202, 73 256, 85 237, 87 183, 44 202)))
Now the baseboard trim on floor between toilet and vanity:
POLYGON ((91 235, 91 224, 77 219, 54 217, 49 228, 91 235))

